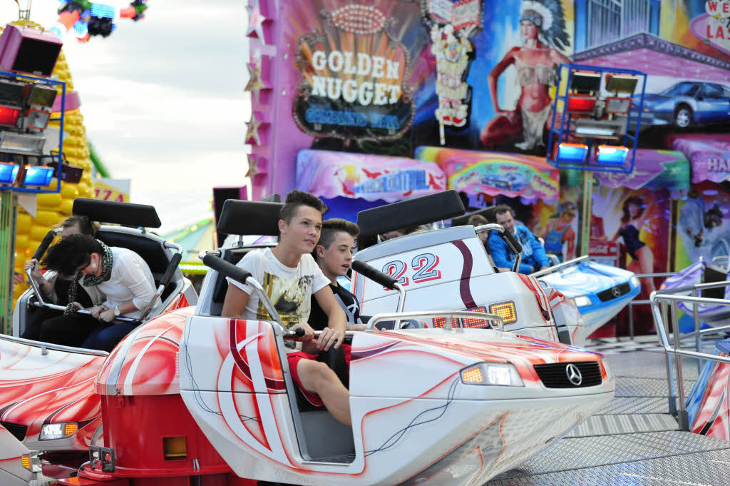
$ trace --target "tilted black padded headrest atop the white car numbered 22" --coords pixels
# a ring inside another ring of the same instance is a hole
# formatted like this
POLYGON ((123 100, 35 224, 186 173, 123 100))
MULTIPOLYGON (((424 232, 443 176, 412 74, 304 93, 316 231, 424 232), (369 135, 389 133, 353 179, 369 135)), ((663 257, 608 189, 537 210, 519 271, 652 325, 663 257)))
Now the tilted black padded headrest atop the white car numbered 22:
POLYGON ((360 238, 454 218, 464 211, 464 202, 453 189, 366 209, 358 213, 360 238))

